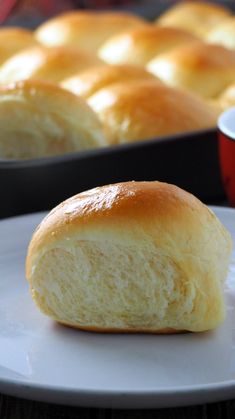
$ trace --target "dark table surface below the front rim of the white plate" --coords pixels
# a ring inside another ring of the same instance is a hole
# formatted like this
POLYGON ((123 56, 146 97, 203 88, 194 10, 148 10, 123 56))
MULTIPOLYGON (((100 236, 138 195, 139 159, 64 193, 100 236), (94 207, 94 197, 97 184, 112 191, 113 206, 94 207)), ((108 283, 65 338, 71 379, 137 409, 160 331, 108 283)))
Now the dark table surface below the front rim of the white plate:
MULTIPOLYGON (((235 395, 234 395, 235 397, 235 395)), ((154 410, 89 409, 39 403, 0 395, 1 419, 234 419, 235 400, 154 410)))

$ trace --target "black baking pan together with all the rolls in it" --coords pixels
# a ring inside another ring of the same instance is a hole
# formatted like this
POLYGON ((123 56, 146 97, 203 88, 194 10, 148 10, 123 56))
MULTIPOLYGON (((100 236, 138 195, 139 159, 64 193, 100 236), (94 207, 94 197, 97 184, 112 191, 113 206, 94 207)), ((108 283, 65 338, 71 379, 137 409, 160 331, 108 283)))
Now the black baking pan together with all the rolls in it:
POLYGON ((224 197, 216 124, 235 105, 232 2, 153 3, 151 18, 77 9, 0 27, 0 217, 127 180, 224 197))

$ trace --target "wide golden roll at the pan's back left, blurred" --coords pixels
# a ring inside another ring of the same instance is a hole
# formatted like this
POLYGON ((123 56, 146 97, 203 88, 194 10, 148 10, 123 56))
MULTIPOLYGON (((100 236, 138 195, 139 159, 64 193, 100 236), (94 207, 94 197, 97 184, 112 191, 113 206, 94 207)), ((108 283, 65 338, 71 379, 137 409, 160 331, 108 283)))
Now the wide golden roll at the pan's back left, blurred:
POLYGON ((73 45, 96 52, 110 36, 146 21, 126 12, 72 11, 43 23, 35 32, 36 39, 48 46, 73 45))

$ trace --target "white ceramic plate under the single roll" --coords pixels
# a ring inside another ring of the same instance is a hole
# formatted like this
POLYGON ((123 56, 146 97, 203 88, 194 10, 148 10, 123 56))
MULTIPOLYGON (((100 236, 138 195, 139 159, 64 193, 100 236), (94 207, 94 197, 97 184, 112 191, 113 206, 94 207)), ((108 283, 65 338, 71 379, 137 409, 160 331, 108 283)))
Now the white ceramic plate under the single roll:
MULTIPOLYGON (((235 242, 235 210, 213 208, 235 242)), ((80 332, 31 300, 27 244, 44 213, 0 221, 0 392, 89 407, 154 408, 235 397, 235 261, 227 318, 209 333, 172 336, 80 332)))

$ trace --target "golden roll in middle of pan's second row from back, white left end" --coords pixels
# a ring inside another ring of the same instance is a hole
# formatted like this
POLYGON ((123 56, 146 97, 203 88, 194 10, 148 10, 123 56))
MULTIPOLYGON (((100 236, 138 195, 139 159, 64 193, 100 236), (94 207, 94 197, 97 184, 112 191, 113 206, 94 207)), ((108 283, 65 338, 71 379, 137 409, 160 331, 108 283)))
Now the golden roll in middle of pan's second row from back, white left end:
POLYGON ((196 36, 182 29, 140 26, 109 38, 99 49, 98 55, 110 64, 144 66, 157 54, 196 39, 196 36))

